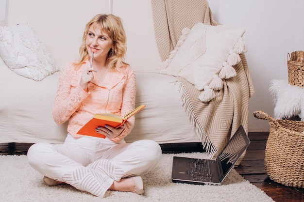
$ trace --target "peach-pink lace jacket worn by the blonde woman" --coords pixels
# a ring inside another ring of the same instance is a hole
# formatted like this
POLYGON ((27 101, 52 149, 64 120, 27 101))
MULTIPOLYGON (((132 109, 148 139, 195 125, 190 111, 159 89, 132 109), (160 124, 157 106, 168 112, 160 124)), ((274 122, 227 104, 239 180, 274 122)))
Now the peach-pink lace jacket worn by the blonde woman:
MULTIPOLYGON (((79 83, 81 74, 89 65, 87 61, 76 71, 73 62, 68 62, 62 69, 52 110, 57 124, 68 121, 68 133, 75 138, 82 137, 76 133, 94 113, 124 116, 135 108, 135 73, 130 66, 121 68, 121 71, 110 71, 102 82, 93 71, 94 79, 88 84, 86 92, 79 83)), ((118 142, 131 132, 135 117, 125 124, 126 128, 113 141, 118 142)))

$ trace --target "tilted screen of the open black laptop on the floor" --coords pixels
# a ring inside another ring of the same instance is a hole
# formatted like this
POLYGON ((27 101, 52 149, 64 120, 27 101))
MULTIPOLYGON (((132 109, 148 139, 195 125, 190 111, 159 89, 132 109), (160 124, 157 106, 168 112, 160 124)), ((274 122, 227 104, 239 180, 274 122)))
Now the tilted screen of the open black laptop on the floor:
POLYGON ((249 143, 250 140, 248 139, 246 132, 241 125, 219 155, 224 177, 236 164, 236 161, 246 150, 249 143))

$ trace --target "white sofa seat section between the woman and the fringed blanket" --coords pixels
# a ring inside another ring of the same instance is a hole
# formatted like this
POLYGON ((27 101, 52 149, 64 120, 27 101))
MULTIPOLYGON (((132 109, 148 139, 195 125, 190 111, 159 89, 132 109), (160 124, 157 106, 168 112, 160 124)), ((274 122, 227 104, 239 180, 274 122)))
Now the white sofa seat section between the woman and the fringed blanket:
POLYGON ((150 139, 158 143, 200 142, 181 102, 179 82, 158 73, 136 75, 136 104, 146 105, 135 115, 135 126, 126 142, 150 139))

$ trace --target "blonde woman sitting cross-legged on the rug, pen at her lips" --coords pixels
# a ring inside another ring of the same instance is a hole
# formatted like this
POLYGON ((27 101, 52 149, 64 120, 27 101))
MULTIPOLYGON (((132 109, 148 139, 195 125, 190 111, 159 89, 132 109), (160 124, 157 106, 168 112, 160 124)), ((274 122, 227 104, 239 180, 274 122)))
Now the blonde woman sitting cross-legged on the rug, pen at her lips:
POLYGON ((161 149, 152 140, 125 143, 134 116, 117 129, 98 127, 105 139, 77 134, 94 113, 124 116, 135 108, 135 73, 123 62, 125 52, 118 16, 97 15, 86 24, 80 60, 63 68, 52 111, 57 124, 68 121, 67 138, 63 144, 36 143, 28 151, 30 165, 48 185, 67 183, 101 197, 106 190, 144 193, 139 175, 156 167, 161 149))

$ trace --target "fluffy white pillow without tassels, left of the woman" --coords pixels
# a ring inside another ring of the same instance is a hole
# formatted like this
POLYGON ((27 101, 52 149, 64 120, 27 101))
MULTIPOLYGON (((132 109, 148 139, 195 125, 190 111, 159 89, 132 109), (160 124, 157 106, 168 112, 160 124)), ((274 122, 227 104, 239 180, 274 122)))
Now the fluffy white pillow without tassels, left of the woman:
POLYGON ((0 56, 15 73, 35 81, 59 70, 47 47, 24 22, 0 27, 0 56))

